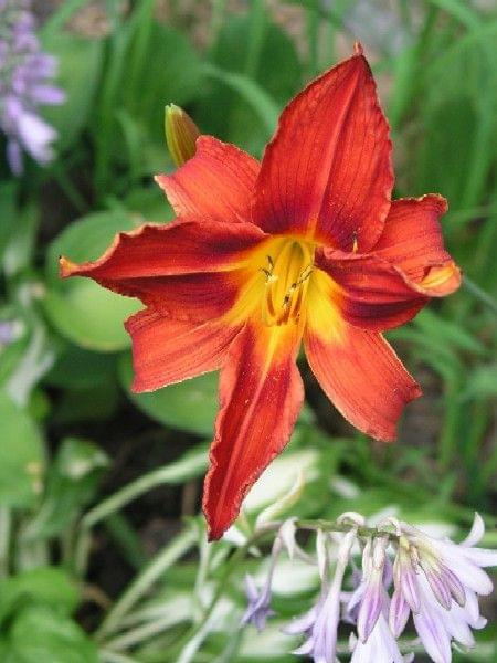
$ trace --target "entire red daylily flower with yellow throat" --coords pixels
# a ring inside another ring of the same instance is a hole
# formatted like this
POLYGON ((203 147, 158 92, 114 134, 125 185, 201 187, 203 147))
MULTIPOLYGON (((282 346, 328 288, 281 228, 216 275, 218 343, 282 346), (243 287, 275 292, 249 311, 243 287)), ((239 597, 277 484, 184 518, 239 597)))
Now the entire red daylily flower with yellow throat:
POLYGON ((455 291, 444 250, 444 198, 391 200, 389 127, 362 50, 284 109, 262 164, 210 136, 156 178, 178 219, 120 233, 97 261, 61 259, 146 305, 126 328, 135 391, 221 369, 205 478, 219 538, 287 443, 304 399, 296 357, 353 425, 394 440, 421 396, 381 332, 455 291))

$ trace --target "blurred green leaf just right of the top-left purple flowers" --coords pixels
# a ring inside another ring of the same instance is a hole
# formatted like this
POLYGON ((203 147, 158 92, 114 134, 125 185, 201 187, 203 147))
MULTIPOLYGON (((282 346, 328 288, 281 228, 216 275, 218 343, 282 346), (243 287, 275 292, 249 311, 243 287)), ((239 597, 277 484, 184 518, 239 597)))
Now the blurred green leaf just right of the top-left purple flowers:
POLYGON ((94 106, 104 56, 104 42, 78 36, 74 32, 50 33, 44 48, 59 57, 56 84, 65 92, 65 102, 44 107, 43 115, 59 131, 56 147, 63 151, 83 130, 94 106))

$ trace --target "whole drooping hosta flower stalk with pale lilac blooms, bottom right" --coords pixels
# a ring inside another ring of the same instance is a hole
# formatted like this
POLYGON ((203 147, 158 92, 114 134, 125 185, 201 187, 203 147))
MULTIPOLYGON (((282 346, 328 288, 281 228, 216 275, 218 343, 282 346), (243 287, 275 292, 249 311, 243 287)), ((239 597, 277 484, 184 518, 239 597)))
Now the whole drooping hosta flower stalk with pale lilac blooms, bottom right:
MULTIPOLYGON (((359 514, 342 514, 326 530, 322 520, 314 525, 293 518, 292 524, 293 536, 300 528, 317 532, 316 556, 300 559, 316 565, 321 579, 316 603, 284 629, 285 633, 304 639, 295 654, 310 656, 314 663, 336 663, 338 653, 343 651, 338 642, 342 622, 349 631, 350 625, 357 629, 349 639, 350 663, 410 663, 410 649, 415 641, 406 634, 401 646, 399 638, 411 612, 421 645, 434 663, 451 663, 453 643, 466 649, 475 645, 472 630, 486 624, 479 613, 478 594, 491 591, 483 568, 497 566, 496 550, 476 547, 484 534, 483 519, 477 514, 469 536, 461 544, 435 539, 394 518, 374 528, 367 527, 359 514), (331 538, 334 529, 341 534, 331 538), (331 541, 336 550, 330 549, 331 541), (359 572, 353 557, 360 549, 359 572), (350 581, 352 590, 345 591, 345 583, 350 581)), ((281 537, 282 528, 275 526, 281 537)), ((287 549, 292 550, 292 546, 287 549)), ((252 621, 260 628, 273 614, 267 587, 275 565, 273 555, 265 589, 260 594, 250 592, 245 614, 254 619, 245 619, 244 623, 252 621)))

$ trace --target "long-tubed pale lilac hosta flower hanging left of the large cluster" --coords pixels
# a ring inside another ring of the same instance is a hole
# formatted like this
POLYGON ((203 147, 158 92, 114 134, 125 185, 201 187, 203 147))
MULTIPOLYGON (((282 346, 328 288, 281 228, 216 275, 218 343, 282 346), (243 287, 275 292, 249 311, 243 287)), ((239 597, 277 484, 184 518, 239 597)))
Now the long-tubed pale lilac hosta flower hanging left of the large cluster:
POLYGON ((341 586, 356 538, 357 527, 343 535, 338 548, 337 565, 330 587, 327 587, 328 583, 325 580, 316 606, 285 629, 285 632, 290 635, 304 634, 306 636, 304 644, 294 653, 310 656, 315 663, 335 663, 337 660, 341 586))

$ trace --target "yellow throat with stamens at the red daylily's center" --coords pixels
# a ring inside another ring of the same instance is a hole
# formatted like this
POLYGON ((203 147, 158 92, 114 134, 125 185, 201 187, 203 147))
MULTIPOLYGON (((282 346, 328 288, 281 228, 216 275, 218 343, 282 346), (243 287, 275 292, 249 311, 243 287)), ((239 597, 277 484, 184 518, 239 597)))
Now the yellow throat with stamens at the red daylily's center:
POLYGON ((260 267, 266 280, 262 322, 271 327, 297 323, 313 273, 314 248, 284 239, 267 249, 266 263, 260 267))

